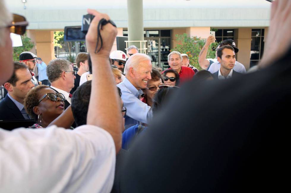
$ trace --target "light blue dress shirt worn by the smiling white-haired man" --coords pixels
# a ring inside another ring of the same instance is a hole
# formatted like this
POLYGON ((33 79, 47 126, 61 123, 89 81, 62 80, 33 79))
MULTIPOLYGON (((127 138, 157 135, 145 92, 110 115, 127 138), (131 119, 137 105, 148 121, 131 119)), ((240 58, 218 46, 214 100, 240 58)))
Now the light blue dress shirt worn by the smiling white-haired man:
POLYGON ((148 124, 152 115, 149 113, 151 107, 138 98, 143 91, 137 90, 127 78, 117 86, 121 90, 121 99, 126 107, 125 129, 140 123, 148 124))

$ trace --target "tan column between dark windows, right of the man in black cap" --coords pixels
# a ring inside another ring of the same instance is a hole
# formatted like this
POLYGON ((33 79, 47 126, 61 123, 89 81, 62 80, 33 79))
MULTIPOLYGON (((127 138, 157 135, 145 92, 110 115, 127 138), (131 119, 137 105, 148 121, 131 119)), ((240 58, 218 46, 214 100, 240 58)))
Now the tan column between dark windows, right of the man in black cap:
POLYGON ((251 54, 251 41, 252 41, 252 28, 238 28, 234 31, 234 41, 236 47, 239 49, 237 61, 249 69, 250 54, 251 54))

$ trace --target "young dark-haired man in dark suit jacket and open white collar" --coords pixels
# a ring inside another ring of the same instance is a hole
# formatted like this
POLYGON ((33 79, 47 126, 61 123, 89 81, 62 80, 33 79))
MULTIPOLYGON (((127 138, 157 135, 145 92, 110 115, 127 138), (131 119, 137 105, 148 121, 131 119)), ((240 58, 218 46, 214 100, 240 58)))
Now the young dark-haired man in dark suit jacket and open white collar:
POLYGON ((217 72, 213 73, 215 79, 224 80, 241 75, 241 73, 233 70, 235 65, 235 52, 232 46, 222 46, 218 48, 217 61, 220 63, 220 68, 217 72))

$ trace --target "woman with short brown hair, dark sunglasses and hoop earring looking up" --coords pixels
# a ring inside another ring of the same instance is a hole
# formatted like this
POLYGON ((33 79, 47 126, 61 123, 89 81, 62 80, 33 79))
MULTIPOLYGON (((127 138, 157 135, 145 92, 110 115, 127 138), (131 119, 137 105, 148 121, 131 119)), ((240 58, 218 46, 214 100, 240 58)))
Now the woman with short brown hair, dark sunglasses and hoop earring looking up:
POLYGON ((64 112, 65 97, 46 85, 31 89, 24 99, 24 108, 35 123, 30 128, 45 128, 64 112))

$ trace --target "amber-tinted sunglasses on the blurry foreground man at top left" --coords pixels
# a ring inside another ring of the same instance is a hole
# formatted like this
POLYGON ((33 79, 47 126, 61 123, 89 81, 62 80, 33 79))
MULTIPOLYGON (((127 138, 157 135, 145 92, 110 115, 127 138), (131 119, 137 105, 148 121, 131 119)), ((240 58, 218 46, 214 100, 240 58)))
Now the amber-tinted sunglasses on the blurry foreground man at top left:
POLYGON ((11 22, 11 24, 5 27, 9 27, 11 33, 23 35, 26 31, 26 26, 28 26, 28 22, 26 21, 25 17, 18 14, 13 14, 13 21, 11 22))

